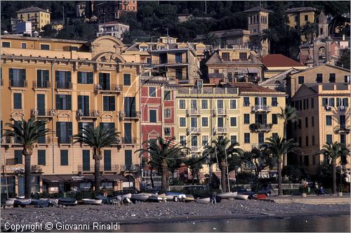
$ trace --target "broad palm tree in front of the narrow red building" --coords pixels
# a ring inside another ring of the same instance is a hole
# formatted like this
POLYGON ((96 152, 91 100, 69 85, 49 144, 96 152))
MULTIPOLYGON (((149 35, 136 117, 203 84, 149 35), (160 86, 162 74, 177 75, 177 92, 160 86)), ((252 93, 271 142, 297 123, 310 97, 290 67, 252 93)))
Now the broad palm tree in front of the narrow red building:
POLYGON ((161 189, 168 189, 168 160, 178 158, 180 154, 184 154, 189 148, 179 144, 171 145, 174 138, 164 140, 164 138, 157 138, 157 140, 147 140, 143 142, 146 149, 138 149, 140 157, 144 153, 150 154, 150 164, 161 170, 161 189))

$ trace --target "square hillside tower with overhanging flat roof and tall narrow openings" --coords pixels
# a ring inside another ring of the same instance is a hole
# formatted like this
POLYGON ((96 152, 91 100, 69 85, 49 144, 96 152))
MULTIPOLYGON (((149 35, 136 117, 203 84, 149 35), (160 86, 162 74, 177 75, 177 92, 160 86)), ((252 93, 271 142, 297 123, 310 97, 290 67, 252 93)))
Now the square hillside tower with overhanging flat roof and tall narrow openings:
MULTIPOLYGON (((244 12, 248 13, 247 28, 250 32, 250 40, 256 40, 258 39, 258 36, 263 31, 263 29, 268 28, 268 16, 269 13, 272 13, 272 11, 269 11, 260 6, 256 6, 244 12)), ((260 55, 267 55, 268 53, 268 41, 262 41, 260 55)))

